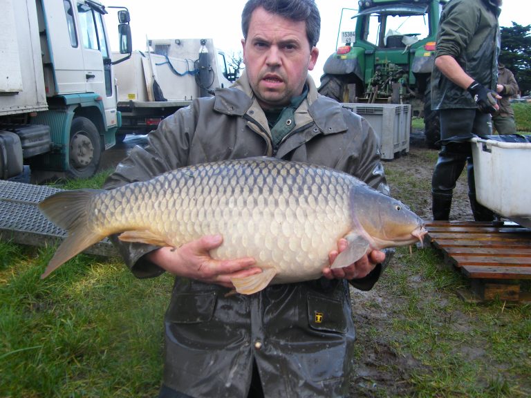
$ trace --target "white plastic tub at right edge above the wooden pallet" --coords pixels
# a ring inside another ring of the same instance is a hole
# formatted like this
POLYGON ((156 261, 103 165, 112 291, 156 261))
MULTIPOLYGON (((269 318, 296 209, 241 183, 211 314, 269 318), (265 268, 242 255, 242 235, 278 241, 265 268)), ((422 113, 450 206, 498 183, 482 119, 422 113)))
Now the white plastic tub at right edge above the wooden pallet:
POLYGON ((471 141, 478 202, 531 227, 531 143, 471 141))

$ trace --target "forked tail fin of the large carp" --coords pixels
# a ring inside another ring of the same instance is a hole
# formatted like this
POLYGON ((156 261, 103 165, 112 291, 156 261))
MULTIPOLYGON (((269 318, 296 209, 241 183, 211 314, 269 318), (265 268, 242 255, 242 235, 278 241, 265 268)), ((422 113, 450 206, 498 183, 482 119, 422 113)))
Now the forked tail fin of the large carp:
POLYGON ((95 189, 62 191, 39 203, 41 212, 55 225, 66 229, 68 233, 55 251, 41 279, 46 278, 60 265, 105 237, 97 233, 93 227, 93 221, 88 216, 91 199, 100 192, 102 191, 95 189))

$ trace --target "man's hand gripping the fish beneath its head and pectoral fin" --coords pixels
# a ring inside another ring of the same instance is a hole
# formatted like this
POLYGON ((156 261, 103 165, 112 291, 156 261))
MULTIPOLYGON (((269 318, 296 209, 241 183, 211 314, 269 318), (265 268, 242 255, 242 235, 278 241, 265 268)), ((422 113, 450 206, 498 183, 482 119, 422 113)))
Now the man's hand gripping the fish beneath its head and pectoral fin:
MULTIPOLYGON (((339 239, 337 243, 337 250, 333 250, 328 254, 328 261, 330 265, 335 261, 337 255, 346 249, 348 242, 346 239, 339 239)), ((348 265, 348 267, 331 269, 326 267, 323 269, 323 276, 327 279, 360 279, 369 275, 369 273, 376 267, 376 264, 382 263, 385 260, 385 253, 380 250, 373 250, 369 254, 366 254, 360 260, 357 260, 354 264, 348 265)))

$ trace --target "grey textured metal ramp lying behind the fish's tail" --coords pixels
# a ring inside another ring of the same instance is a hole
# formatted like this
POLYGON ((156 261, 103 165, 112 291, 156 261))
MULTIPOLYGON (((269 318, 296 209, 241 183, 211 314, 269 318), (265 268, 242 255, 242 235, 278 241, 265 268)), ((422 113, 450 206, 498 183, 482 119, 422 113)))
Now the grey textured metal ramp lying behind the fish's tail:
MULTIPOLYGON (((0 180, 0 240, 21 245, 57 245, 66 231, 48 221, 37 205, 59 188, 0 180)), ((118 256, 108 238, 84 251, 99 256, 118 256)))

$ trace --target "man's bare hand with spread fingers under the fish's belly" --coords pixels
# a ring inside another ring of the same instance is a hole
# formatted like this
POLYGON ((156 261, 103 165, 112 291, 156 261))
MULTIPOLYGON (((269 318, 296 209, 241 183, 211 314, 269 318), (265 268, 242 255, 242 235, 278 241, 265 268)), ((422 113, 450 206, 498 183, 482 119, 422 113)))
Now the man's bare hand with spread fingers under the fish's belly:
POLYGON ((147 254, 148 259, 170 274, 192 278, 203 283, 234 288, 230 278, 259 274, 261 269, 252 267, 254 258, 236 258, 234 260, 214 260, 209 251, 223 243, 219 235, 203 236, 181 247, 161 247, 147 254))

